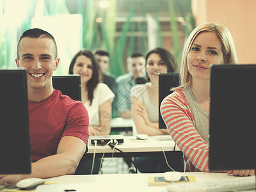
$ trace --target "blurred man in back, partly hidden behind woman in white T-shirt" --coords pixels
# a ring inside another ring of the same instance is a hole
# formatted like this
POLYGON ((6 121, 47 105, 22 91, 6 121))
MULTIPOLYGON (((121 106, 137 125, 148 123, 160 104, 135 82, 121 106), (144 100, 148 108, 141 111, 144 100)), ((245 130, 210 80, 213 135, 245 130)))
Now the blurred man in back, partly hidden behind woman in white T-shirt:
POLYGON ((109 52, 104 49, 97 49, 94 51, 95 59, 100 68, 100 81, 108 85, 113 93, 116 93, 115 76, 108 72, 109 70, 109 52))

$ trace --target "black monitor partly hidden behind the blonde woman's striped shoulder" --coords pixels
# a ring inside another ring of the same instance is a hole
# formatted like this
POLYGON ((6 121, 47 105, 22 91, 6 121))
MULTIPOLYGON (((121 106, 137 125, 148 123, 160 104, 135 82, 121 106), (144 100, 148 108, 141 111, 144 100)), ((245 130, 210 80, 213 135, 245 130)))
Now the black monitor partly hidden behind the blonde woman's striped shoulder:
POLYGON ((159 83, 159 129, 166 129, 166 125, 164 124, 164 120, 160 113, 160 106, 163 99, 170 95, 173 91, 170 89, 173 87, 179 86, 179 73, 167 73, 167 74, 159 74, 158 76, 159 83))

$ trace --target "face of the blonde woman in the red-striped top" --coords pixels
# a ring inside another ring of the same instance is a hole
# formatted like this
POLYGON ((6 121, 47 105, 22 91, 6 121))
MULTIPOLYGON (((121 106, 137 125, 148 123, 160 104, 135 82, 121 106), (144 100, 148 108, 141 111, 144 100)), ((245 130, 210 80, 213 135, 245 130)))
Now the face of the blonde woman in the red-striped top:
POLYGON ((195 79, 210 79, 210 65, 223 64, 223 52, 218 36, 212 32, 200 33, 188 53, 188 71, 195 79))

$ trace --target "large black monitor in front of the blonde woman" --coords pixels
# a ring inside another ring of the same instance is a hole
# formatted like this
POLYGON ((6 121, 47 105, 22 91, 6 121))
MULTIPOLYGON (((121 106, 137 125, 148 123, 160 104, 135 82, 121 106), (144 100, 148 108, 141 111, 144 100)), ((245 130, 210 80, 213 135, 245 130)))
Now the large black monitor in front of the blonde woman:
POLYGON ((253 169, 256 163, 256 65, 212 65, 210 170, 253 169))

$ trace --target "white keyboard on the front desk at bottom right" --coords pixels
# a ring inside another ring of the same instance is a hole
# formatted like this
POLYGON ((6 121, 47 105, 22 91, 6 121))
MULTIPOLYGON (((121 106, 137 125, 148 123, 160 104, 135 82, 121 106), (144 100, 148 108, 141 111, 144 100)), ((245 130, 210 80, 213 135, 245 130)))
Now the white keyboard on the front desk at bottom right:
POLYGON ((255 175, 251 177, 236 177, 232 179, 212 180, 206 182, 174 183, 166 186, 168 192, 225 192, 255 189, 255 175))

